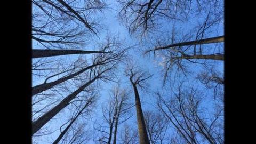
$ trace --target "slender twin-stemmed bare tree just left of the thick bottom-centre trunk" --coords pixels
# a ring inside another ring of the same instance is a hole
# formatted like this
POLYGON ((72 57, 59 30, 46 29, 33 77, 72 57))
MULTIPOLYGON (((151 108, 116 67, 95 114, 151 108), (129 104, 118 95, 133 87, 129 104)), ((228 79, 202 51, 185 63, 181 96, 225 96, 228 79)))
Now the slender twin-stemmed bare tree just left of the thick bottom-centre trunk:
POLYGON ((108 144, 113 141, 113 144, 115 144, 117 141, 118 125, 132 116, 131 113, 129 113, 132 107, 133 105, 129 102, 129 94, 127 91, 121 89, 119 86, 114 87, 111 90, 107 106, 102 107, 103 119, 107 126, 97 124, 99 126, 94 129, 99 131, 101 136, 94 141, 108 144), (105 128, 107 128, 107 130, 105 128))

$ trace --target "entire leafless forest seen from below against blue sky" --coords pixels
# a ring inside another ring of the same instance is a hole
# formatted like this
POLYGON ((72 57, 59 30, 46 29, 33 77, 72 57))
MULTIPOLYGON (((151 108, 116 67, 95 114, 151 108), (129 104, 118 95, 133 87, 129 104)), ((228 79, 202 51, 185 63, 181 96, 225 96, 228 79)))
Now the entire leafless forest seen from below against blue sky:
POLYGON ((223 0, 32 0, 33 144, 224 143, 223 0))

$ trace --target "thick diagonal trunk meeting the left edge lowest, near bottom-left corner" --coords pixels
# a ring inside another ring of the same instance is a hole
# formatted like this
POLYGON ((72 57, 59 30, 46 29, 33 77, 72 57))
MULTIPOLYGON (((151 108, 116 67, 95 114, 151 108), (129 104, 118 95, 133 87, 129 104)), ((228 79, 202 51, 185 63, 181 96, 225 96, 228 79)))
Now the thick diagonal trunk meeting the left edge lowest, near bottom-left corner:
POLYGON ((73 100, 76 97, 77 94, 82 92, 87 86, 92 84, 99 77, 100 77, 100 74, 98 76, 94 77, 93 79, 91 79, 89 82, 87 82, 83 86, 79 87, 79 89, 77 89, 75 92, 68 95, 68 97, 63 99, 57 106, 55 106, 50 111, 45 113, 43 116, 39 117, 35 122, 33 122, 32 123, 32 134, 34 134, 39 129, 41 129, 41 127, 43 127, 47 122, 49 122, 52 117, 57 115, 60 110, 62 110, 66 106, 68 106, 69 102, 71 100, 73 100))

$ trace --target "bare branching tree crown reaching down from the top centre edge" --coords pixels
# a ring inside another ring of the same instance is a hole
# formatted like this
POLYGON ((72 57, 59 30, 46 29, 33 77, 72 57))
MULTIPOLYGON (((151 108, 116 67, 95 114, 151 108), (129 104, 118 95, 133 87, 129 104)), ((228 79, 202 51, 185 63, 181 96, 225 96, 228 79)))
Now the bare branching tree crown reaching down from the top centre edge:
MULTIPOLYGON (((119 12, 119 18, 127 23, 130 33, 141 31, 141 35, 148 30, 155 29, 159 23, 158 19, 169 18, 179 19, 177 13, 173 12, 173 5, 175 2, 162 0, 145 0, 145 1, 118 1, 122 5, 119 12)), ((182 1, 177 1, 176 8, 184 8, 182 1)), ((175 7, 175 5, 174 5, 175 7)), ((185 6, 186 7, 186 6, 185 6)), ((176 9, 179 11, 179 9, 176 9)))

